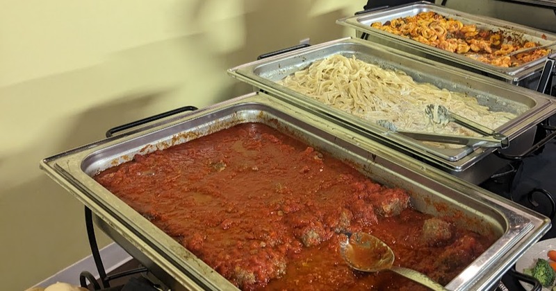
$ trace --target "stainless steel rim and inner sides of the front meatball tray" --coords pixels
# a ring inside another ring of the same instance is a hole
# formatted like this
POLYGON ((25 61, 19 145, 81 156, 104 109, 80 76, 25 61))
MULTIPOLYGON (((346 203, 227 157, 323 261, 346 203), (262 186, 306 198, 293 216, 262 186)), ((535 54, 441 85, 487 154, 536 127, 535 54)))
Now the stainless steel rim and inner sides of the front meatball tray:
MULTIPOLYGON (((142 258, 163 270, 174 285, 188 290, 236 290, 222 276, 177 241, 99 185, 92 175, 170 145, 238 123, 260 122, 301 139, 319 150, 356 166, 361 173, 386 186, 411 193, 411 205, 432 215, 457 215, 461 227, 495 233, 498 240, 472 265, 453 279, 450 290, 484 290, 550 227, 548 218, 498 195, 411 159, 400 152, 354 134, 335 123, 265 94, 249 94, 163 123, 84 145, 41 161, 41 168, 112 229, 142 258), (439 207, 438 205, 447 207, 439 207)), ((147 263, 149 263, 147 262, 147 263)), ((168 284, 172 285, 172 284, 168 284)))

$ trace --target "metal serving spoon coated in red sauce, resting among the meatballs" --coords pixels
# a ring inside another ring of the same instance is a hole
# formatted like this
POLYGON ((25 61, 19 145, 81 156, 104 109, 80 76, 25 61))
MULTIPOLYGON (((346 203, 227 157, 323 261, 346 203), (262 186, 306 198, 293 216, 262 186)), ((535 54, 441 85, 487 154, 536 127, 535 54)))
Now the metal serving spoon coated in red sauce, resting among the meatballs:
POLYGON ((363 232, 347 233, 346 236, 347 239, 340 243, 340 254, 353 269, 361 272, 391 270, 432 290, 446 290, 423 273, 392 265, 395 258, 392 249, 375 236, 363 232))

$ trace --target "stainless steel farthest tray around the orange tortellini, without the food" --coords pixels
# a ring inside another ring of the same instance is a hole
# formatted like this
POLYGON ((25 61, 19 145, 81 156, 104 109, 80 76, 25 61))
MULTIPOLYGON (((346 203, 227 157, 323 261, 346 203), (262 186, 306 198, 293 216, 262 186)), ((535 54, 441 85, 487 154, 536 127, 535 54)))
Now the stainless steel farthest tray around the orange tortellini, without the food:
MULTIPOLYGON (((492 64, 485 64, 478 60, 467 58, 464 55, 444 51, 434 46, 422 44, 414 39, 401 37, 383 30, 370 27, 374 22, 384 22, 396 19, 398 17, 409 17, 418 15, 420 12, 436 12, 444 17, 461 21, 464 24, 475 24, 477 28, 485 30, 504 31, 505 37, 519 37, 528 39, 529 41, 539 42, 540 44, 548 44, 556 40, 556 35, 534 28, 529 28, 520 24, 514 24, 508 21, 502 21, 491 17, 481 15, 471 15, 458 10, 437 6, 433 3, 421 1, 403 6, 395 6, 383 10, 361 13, 352 17, 338 19, 337 24, 354 28, 358 33, 364 33, 365 38, 370 42, 384 44, 392 48, 402 51, 414 53, 425 58, 430 58, 439 62, 444 62, 455 67, 460 67, 475 73, 482 73, 492 78, 504 80, 514 85, 536 89, 539 76, 543 69, 543 64, 547 57, 539 58, 532 62, 527 62, 518 67, 504 68, 497 67, 492 64)), ((556 54, 553 54, 556 55, 556 54)))

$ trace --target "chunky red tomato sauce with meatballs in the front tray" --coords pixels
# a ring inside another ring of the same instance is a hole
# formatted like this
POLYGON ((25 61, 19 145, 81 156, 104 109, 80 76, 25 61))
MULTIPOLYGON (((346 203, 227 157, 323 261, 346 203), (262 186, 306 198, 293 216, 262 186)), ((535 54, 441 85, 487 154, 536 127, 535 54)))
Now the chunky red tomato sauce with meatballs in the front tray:
POLYGON ((419 290, 350 269, 346 231, 367 231, 394 264, 447 284, 495 236, 411 208, 409 194, 261 123, 243 123, 108 168, 97 182, 242 290, 419 290))

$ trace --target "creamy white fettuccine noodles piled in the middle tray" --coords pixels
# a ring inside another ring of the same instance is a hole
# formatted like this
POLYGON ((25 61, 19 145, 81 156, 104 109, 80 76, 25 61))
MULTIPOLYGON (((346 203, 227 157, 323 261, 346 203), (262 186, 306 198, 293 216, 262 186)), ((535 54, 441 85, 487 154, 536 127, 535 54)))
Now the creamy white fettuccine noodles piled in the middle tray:
POLYGON ((433 124, 424 114, 429 104, 444 105, 450 112, 492 129, 516 117, 509 112, 492 112, 472 96, 418 83, 402 71, 343 55, 313 62, 279 83, 373 123, 390 121, 398 130, 476 135, 455 123, 433 124))

